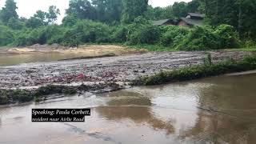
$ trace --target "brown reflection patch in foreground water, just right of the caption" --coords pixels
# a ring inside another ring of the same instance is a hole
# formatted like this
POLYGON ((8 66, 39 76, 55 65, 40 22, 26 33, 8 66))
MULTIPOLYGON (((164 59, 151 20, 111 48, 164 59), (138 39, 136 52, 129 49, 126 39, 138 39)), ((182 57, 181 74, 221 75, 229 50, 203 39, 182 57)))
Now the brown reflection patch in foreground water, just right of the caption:
POLYGON ((149 97, 126 90, 114 92, 109 96, 119 97, 111 99, 107 106, 96 108, 97 113, 103 117, 117 122, 127 118, 135 123, 147 123, 155 130, 166 130, 167 134, 174 132, 174 126, 170 121, 165 122, 154 115, 149 97))

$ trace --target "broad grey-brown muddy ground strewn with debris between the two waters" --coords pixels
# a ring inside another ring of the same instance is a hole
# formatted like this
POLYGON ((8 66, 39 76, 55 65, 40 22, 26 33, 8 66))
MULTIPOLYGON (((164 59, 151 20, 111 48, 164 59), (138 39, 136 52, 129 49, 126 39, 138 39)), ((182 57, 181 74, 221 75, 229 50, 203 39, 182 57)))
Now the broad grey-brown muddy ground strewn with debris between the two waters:
MULTIPOLYGON (((104 85, 113 82, 131 82, 139 77, 158 74, 161 70, 198 66, 203 63, 203 59, 209 53, 214 63, 229 58, 241 60, 250 54, 241 51, 165 52, 2 66, 0 67, 0 87, 4 90, 10 90, 52 84, 66 85, 74 82, 103 82, 104 85)), ((70 86, 66 86, 64 89, 67 87, 70 86)), ((99 84, 94 84, 94 87, 98 87, 99 90, 102 88, 99 84)), ((109 87, 112 90, 116 88, 116 86, 112 87, 111 85, 109 87)), ((58 93, 62 94, 62 91, 58 93)))

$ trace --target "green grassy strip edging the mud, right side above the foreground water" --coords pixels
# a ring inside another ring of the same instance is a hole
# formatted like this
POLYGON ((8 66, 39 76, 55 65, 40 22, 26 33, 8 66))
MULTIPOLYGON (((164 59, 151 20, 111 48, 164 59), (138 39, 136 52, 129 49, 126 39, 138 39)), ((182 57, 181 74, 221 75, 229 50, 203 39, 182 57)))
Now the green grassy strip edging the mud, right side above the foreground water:
POLYGON ((256 55, 248 56, 241 61, 234 61, 232 59, 226 62, 219 62, 212 64, 210 57, 204 60, 201 66, 190 66, 177 70, 161 71, 149 77, 138 78, 133 82, 134 85, 158 85, 166 82, 180 82, 198 78, 206 78, 220 74, 227 74, 232 72, 241 72, 246 70, 256 69, 256 55))

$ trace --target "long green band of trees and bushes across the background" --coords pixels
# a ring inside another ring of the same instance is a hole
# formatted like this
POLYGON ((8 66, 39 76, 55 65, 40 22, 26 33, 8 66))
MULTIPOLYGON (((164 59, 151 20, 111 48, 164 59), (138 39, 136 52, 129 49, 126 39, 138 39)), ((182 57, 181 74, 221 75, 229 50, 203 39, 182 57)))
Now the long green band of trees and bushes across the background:
POLYGON ((59 15, 56 6, 50 6, 46 12, 38 10, 27 19, 18 17, 14 0, 6 0, 0 10, 0 46, 116 42, 210 50, 254 45, 256 19, 252 12, 256 3, 237 1, 193 0, 153 8, 148 0, 70 0, 66 17, 57 25, 54 24, 59 15), (151 20, 184 17, 187 12, 206 14, 205 26, 190 29, 151 23, 151 20))

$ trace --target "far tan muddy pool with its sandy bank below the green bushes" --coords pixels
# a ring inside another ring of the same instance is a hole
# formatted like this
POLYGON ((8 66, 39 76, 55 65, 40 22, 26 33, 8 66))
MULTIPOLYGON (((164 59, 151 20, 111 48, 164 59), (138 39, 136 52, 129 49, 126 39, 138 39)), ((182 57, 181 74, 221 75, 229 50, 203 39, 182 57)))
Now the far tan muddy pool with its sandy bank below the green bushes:
POLYGON ((20 65, 27 62, 52 62, 62 59, 93 57, 105 54, 140 54, 142 50, 113 45, 84 45, 79 48, 36 45, 23 48, 0 48, 0 66, 20 65))

